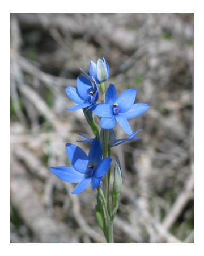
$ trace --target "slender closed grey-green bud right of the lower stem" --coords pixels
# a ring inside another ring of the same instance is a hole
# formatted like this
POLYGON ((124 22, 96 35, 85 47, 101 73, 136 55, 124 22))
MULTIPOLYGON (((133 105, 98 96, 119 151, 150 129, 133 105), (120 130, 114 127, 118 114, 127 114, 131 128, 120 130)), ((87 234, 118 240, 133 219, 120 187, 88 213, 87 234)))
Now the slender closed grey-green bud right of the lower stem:
POLYGON ((121 172, 121 167, 120 167, 120 161, 117 157, 116 164, 114 167, 114 182, 113 182, 113 192, 112 192, 113 208, 115 208, 118 204, 121 185, 122 185, 122 172, 121 172))

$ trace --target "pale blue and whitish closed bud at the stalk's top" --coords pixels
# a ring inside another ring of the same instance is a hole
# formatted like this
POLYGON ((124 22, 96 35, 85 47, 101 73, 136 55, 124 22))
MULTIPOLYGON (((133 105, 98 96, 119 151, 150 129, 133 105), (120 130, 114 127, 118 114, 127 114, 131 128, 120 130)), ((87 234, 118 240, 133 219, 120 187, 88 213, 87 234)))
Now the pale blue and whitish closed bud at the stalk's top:
POLYGON ((84 72, 83 69, 79 69, 80 71, 82 71, 83 75, 87 77, 88 80, 95 80, 98 84, 107 81, 110 73, 109 65, 104 58, 102 60, 98 59, 97 64, 94 61, 90 60, 90 66, 88 68, 90 76, 86 72, 84 72))

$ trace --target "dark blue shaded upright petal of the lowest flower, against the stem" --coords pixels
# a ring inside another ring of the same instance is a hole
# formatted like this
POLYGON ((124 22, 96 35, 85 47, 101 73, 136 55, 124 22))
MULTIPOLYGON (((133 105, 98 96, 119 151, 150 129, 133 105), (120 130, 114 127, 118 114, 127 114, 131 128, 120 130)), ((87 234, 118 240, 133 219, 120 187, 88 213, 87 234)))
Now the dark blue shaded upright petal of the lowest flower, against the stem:
POLYGON ((88 159, 90 160, 91 164, 94 164, 95 167, 102 159, 102 149, 98 137, 96 137, 91 143, 88 159))

